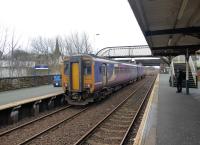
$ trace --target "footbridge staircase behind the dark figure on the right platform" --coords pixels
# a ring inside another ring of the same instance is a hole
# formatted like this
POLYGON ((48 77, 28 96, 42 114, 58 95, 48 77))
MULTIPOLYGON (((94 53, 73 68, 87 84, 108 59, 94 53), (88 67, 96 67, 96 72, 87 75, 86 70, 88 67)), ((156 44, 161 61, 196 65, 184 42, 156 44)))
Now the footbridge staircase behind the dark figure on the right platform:
MULTIPOLYGON (((174 65, 175 76, 177 76, 178 69, 182 70, 183 73, 184 73, 184 76, 186 76, 186 63, 174 63, 173 65, 174 65)), ((189 85, 189 88, 197 88, 198 87, 196 79, 194 78, 190 67, 189 67, 189 81, 188 81, 188 85, 189 85)), ((173 81, 173 86, 176 87, 176 80, 173 81)), ((186 80, 185 79, 182 82, 182 87, 183 88, 186 87, 186 80)))

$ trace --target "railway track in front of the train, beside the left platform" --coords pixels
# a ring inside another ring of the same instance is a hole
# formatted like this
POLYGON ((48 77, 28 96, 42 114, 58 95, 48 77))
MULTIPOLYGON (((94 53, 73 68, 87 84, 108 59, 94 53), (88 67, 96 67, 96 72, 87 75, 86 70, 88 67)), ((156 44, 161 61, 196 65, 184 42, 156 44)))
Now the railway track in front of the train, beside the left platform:
MULTIPOLYGON (((79 114, 81 114, 82 112, 84 112, 88 109, 88 108, 84 108, 81 110, 73 110, 70 113, 68 113, 68 114, 72 114, 72 115, 69 115, 68 117, 64 117, 64 119, 63 119, 63 117, 62 117, 62 119, 61 119, 61 117, 58 117, 58 119, 55 120, 55 118, 57 118, 55 115, 61 116, 61 113, 63 113, 64 111, 68 111, 68 109, 70 109, 71 106, 72 105, 63 107, 59 110, 56 110, 47 115, 44 115, 42 117, 39 117, 37 119, 34 119, 34 120, 24 123, 22 125, 19 125, 15 128, 1 132, 0 133, 0 141, 5 140, 5 138, 6 138, 6 140, 9 139, 9 141, 13 139, 15 142, 14 143, 2 142, 2 144, 4 144, 4 143, 5 144, 17 144, 17 145, 26 144, 26 143, 30 142, 31 140, 33 140, 34 138, 42 135, 43 133, 48 132, 51 129, 59 126, 60 124, 75 118, 76 116, 78 116, 79 114), (76 112, 76 113, 74 113, 74 112, 76 112), (43 126, 44 122, 45 121, 50 122, 49 120, 51 120, 51 117, 52 118, 54 117, 54 121, 53 121, 54 123, 51 122, 52 125, 50 125, 50 126, 46 125, 44 127, 43 126), (37 129, 37 131, 34 130, 35 126, 37 126, 39 128, 39 129, 37 129), (29 131, 27 131, 27 130, 29 130, 29 131), (27 132, 26 136, 25 135, 19 136, 19 133, 24 134, 24 131, 27 132), (17 139, 15 140, 16 136, 17 136, 17 139)), ((63 114, 63 116, 64 116, 64 114, 63 114)))

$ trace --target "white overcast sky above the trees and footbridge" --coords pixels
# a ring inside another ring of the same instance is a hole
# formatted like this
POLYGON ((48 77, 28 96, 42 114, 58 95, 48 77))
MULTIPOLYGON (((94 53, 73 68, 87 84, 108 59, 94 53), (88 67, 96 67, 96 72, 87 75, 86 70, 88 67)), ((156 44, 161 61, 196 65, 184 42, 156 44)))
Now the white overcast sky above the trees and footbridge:
POLYGON ((127 0, 0 0, 0 26, 21 42, 86 32, 95 49, 146 45, 127 0))

